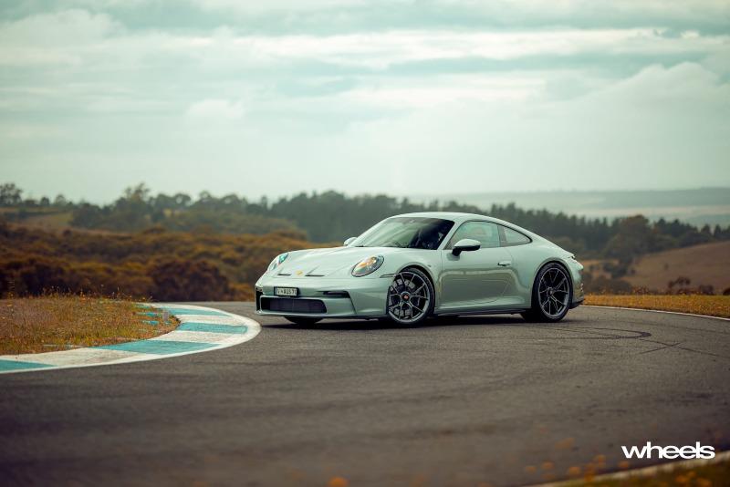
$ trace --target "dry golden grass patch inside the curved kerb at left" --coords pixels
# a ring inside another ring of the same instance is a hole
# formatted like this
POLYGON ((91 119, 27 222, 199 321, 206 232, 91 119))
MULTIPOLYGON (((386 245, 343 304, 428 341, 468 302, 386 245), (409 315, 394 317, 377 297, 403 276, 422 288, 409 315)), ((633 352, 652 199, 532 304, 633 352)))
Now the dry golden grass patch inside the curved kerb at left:
POLYGON ((177 320, 140 315, 133 302, 85 295, 47 295, 0 300, 0 354, 96 347, 157 337, 177 320), (160 321, 157 325, 145 320, 160 321))

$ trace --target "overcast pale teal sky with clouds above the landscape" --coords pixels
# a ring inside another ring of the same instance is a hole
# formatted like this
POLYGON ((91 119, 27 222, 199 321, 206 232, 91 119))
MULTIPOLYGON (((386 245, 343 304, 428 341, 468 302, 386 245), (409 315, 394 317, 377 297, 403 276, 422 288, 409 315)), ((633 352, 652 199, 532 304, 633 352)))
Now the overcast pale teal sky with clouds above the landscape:
POLYGON ((729 186, 730 2, 3 2, 0 164, 95 202, 729 186))

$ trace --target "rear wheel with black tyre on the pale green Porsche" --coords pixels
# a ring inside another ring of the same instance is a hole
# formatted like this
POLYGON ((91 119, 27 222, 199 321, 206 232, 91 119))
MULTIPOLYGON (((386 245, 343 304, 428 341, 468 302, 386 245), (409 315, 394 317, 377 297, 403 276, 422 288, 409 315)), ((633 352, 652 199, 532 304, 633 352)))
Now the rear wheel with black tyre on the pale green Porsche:
POLYGON ((543 265, 532 285, 532 307, 522 317, 530 322, 555 323, 563 319, 573 301, 568 269, 551 262, 543 265))

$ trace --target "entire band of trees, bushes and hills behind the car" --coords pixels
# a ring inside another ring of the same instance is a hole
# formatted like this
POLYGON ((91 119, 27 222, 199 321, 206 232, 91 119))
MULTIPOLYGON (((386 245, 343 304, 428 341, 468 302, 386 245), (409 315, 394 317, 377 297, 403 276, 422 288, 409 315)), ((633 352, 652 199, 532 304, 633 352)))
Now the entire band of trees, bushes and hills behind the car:
POLYGON ((0 184, 0 297, 120 292, 155 300, 250 300, 277 254, 339 245, 401 212, 485 213, 522 225, 586 264, 590 294, 730 295, 730 226, 699 228, 641 215, 590 219, 457 202, 300 193, 269 202, 129 188, 109 204, 24 198, 0 184), (171 277, 174 276, 174 277, 171 277))

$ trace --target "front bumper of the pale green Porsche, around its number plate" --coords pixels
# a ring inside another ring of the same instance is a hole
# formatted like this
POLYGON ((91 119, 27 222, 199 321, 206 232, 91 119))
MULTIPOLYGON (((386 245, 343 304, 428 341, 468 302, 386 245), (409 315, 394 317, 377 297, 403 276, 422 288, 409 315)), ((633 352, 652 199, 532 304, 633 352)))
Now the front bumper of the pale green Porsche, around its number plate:
POLYGON ((332 279, 265 275, 255 285, 256 314, 322 318, 385 316, 391 277, 332 279), (278 296, 276 287, 296 287, 298 294, 278 296))

